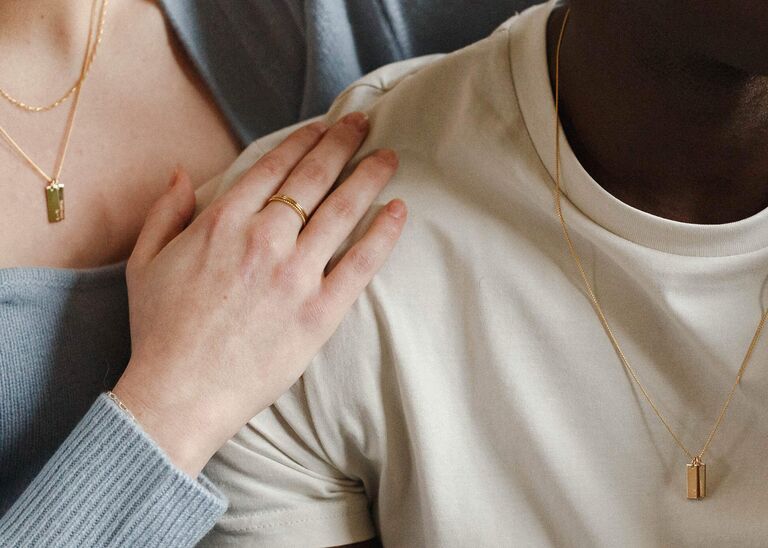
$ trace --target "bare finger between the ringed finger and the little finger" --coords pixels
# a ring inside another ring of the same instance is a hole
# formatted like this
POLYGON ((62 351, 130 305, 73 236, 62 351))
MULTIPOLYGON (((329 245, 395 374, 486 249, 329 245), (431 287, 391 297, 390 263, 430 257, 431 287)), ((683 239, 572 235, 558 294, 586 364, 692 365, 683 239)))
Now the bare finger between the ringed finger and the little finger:
POLYGON ((397 169, 392 150, 365 158, 339 188, 317 208, 299 234, 298 252, 314 264, 326 265, 397 169))

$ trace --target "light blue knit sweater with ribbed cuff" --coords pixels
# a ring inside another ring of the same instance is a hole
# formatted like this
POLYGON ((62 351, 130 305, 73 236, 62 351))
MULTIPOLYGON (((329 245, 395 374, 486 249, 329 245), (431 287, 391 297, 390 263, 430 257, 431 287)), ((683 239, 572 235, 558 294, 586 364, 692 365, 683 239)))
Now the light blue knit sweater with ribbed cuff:
MULTIPOLYGON (((516 0, 165 0, 243 143, 363 72, 479 39, 516 0)), ((224 512, 103 395, 130 357, 123 264, 0 269, 0 546, 189 546, 224 512)))

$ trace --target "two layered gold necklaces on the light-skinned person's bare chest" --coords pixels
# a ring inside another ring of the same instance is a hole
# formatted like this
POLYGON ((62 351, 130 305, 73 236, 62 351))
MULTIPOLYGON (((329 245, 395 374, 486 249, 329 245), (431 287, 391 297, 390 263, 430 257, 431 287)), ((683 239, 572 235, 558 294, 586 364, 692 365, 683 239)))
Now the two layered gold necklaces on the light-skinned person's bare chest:
POLYGON ((88 73, 90 71, 93 60, 96 57, 99 44, 101 43, 102 35, 104 34, 104 21, 107 14, 107 6, 109 0, 103 0, 101 4, 101 10, 98 16, 98 23, 94 26, 96 20, 96 7, 99 0, 94 0, 91 6, 91 18, 88 25, 88 40, 85 46, 85 54, 83 56, 83 64, 80 68, 80 75, 77 81, 70 87, 67 92, 59 97, 56 101, 43 106, 32 106, 19 99, 16 99, 10 95, 5 89, 0 88, 0 97, 7 100, 13 106, 25 110, 27 112, 46 112, 53 110, 59 105, 63 104, 67 99, 73 97, 72 107, 67 117, 67 123, 64 128, 64 138, 59 150, 58 159, 53 169, 53 175, 46 173, 40 165, 32 160, 24 149, 8 134, 8 132, 0 126, 0 135, 11 146, 11 148, 19 154, 29 166, 34 169, 46 182, 45 186, 45 202, 46 209, 48 211, 48 222, 56 223, 64 220, 64 185, 61 183, 60 176, 61 170, 64 167, 64 159, 67 156, 67 150, 69 149, 69 142, 72 137, 72 128, 75 124, 75 117, 77 115, 77 107, 80 103, 80 93, 83 89, 88 73))

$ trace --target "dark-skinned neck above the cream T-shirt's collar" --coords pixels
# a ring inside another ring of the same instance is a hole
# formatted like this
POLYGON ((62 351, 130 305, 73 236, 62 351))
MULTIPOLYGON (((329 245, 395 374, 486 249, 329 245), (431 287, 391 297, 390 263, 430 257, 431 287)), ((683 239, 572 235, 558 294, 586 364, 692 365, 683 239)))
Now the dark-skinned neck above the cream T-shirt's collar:
MULTIPOLYGON (((564 11, 547 32, 553 82, 564 11)), ((677 221, 768 207, 768 78, 667 46, 631 11, 571 10, 560 119, 582 165, 623 202, 677 221)))

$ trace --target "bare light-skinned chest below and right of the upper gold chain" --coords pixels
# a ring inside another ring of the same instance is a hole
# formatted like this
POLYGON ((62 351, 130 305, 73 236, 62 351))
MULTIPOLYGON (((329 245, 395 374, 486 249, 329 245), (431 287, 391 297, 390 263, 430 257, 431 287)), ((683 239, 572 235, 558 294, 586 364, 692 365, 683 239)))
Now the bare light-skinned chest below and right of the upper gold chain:
MULTIPOLYGON (((83 89, 61 174, 63 222, 47 222, 45 181, 9 147, 0 148, 0 267, 123 260, 176 165, 201 184, 238 152, 159 11, 113 15, 132 18, 132 25, 107 27, 83 89)), ((51 83, 51 93, 59 87, 51 83)), ((0 123, 49 174, 68 104, 41 114, 0 105, 0 123)))

